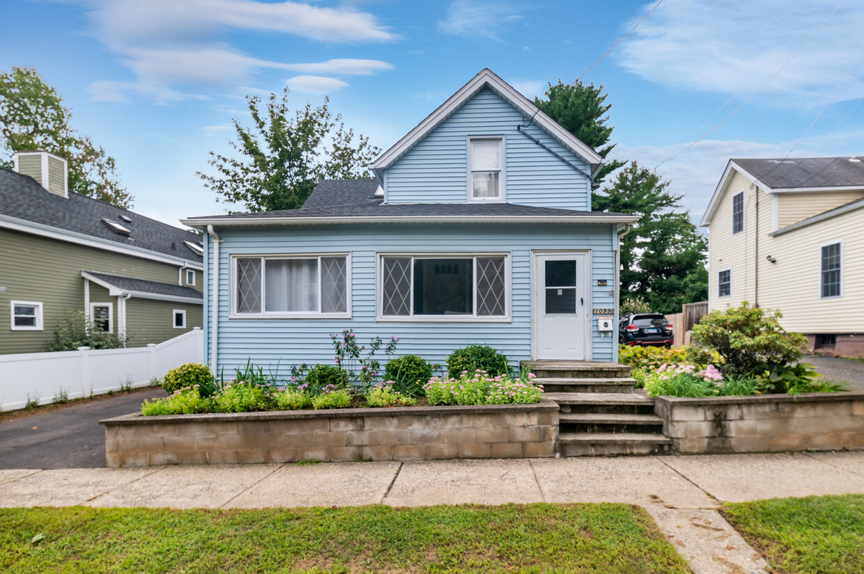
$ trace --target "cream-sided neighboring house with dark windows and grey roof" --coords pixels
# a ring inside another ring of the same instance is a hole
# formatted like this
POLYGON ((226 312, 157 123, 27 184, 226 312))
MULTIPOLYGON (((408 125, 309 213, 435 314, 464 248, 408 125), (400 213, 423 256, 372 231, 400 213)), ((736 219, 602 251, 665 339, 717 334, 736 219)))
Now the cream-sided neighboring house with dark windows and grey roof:
POLYGON ((864 356, 864 158, 730 160, 702 226, 709 310, 779 309, 811 351, 864 356))

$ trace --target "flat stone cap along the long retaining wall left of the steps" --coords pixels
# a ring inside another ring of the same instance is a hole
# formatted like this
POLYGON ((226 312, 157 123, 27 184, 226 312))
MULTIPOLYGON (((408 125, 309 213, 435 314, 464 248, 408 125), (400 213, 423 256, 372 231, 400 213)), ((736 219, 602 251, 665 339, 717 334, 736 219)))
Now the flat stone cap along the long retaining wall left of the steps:
POLYGON ((111 419, 102 419, 100 425, 150 425, 175 422, 231 422, 236 420, 281 420, 281 419, 356 419, 359 417, 392 417, 410 415, 442 416, 445 414, 494 414, 530 413, 534 411, 558 411, 558 404, 541 400, 530 405, 457 405, 446 407, 382 407, 382 408, 327 408, 321 410, 258 411, 255 413, 202 413, 162 414, 144 417, 141 413, 124 414, 111 419))

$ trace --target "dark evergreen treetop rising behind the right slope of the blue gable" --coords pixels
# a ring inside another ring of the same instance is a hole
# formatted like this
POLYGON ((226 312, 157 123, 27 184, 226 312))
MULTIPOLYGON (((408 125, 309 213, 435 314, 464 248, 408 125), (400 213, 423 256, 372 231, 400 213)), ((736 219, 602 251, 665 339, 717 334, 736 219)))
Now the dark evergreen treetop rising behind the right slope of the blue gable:
MULTIPOLYGON (((609 143, 615 126, 608 125, 607 112, 612 104, 606 103, 607 96, 603 93, 602 84, 584 85, 577 81, 564 85, 559 79, 556 85, 549 85, 543 98, 535 98, 534 104, 606 159, 615 147, 615 144, 609 143)), ((624 164, 624 161, 619 160, 608 161, 600 168, 591 189, 599 189, 606 176, 624 164)))

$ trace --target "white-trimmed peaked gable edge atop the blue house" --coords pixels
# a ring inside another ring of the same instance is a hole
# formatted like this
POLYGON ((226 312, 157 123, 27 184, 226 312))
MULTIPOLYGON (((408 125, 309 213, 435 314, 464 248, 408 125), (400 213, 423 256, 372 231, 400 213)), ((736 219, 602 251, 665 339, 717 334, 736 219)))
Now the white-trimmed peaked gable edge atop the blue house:
POLYGON ((484 88, 489 88, 504 99, 505 102, 513 106, 516 110, 522 112, 524 117, 533 117, 533 123, 539 126, 543 131, 554 137, 565 148, 568 148, 575 155, 578 155, 591 166, 591 171, 603 163, 603 158, 589 148, 579 138, 571 134, 567 129, 564 129, 560 123, 546 115, 528 98, 525 98, 519 93, 516 88, 507 84, 503 79, 492 73, 488 68, 483 69, 473 77, 466 85, 463 85, 459 91, 456 91, 446 102, 441 104, 437 110, 433 111, 421 123, 418 123, 414 129, 411 129, 401 140, 393 144, 393 146, 378 156, 378 159, 372 162, 372 171, 380 179, 382 173, 388 167, 396 163, 399 158, 408 153, 408 151, 421 142, 422 139, 429 133, 441 125, 448 117, 452 116, 456 110, 459 110, 468 100, 473 98, 477 92, 484 88))

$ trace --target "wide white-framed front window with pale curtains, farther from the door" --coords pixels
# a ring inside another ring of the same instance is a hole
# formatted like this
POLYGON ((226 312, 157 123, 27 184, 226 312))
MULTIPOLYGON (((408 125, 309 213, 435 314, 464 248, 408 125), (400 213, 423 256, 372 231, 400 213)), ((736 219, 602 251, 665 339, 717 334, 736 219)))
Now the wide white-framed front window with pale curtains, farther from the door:
POLYGON ((234 313, 307 317, 348 313, 347 255, 234 259, 234 313))

